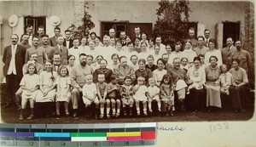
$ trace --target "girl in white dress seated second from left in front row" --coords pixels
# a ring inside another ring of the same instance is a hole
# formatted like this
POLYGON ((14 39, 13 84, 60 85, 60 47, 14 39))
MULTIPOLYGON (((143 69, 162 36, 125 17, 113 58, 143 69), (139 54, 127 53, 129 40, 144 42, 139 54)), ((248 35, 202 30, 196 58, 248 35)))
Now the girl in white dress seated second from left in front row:
POLYGON ((39 75, 39 91, 36 96, 36 103, 44 103, 44 108, 46 108, 46 116, 50 113, 54 113, 55 110, 55 80, 58 76, 57 72, 53 71, 52 63, 50 60, 45 62, 46 71, 41 72, 39 75))

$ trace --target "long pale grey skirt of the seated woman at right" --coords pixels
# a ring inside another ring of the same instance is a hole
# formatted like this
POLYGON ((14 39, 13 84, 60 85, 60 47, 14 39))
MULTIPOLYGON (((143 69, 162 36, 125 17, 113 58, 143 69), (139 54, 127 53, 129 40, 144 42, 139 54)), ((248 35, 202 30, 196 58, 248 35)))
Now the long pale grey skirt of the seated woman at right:
POLYGON ((215 106, 221 108, 220 87, 215 85, 206 85, 207 89, 207 107, 215 106))

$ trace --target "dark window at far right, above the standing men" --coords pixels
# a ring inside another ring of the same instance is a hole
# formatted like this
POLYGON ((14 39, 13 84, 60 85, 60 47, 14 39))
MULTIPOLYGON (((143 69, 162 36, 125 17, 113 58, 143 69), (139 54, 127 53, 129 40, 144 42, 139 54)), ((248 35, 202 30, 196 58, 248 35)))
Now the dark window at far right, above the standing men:
POLYGON ((233 41, 239 40, 240 38, 240 21, 230 22, 224 21, 223 25, 223 47, 226 47, 226 40, 228 37, 232 37, 233 41))

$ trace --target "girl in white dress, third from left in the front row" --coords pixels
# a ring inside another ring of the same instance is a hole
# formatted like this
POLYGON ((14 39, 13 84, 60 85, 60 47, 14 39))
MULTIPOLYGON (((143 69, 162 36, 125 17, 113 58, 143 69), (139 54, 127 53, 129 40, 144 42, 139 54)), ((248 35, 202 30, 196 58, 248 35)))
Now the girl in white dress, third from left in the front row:
POLYGON ((61 66, 59 76, 56 78, 57 94, 56 94, 56 115, 60 116, 61 102, 64 102, 66 116, 69 116, 68 104, 71 99, 70 92, 71 78, 68 76, 66 66, 61 66))

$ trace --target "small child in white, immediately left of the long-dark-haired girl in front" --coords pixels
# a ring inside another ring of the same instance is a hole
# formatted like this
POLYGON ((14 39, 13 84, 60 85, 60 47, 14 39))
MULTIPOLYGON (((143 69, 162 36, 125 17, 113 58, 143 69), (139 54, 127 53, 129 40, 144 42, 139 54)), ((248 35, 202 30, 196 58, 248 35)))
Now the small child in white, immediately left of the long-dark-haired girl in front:
POLYGON ((157 105, 158 105, 158 110, 161 111, 161 102, 160 102, 160 88, 155 86, 155 80, 154 78, 149 78, 148 79, 149 86, 147 88, 147 97, 148 97, 148 109, 149 112, 153 112, 152 110, 152 100, 156 100, 157 105))

